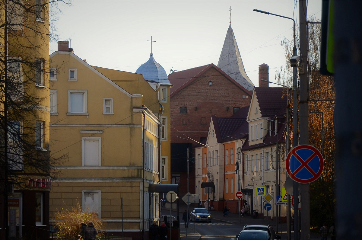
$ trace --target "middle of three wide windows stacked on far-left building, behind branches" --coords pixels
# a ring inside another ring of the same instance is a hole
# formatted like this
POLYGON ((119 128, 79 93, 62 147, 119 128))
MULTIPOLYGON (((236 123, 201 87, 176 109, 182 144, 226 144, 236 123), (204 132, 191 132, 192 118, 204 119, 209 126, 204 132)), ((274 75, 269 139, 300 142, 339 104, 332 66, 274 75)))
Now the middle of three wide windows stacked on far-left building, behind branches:
MULTIPOLYGON (((10 2, 9 2, 10 3, 10 2)), ((21 58, 8 59, 8 98, 12 101, 21 101, 24 95, 24 76, 21 58)))

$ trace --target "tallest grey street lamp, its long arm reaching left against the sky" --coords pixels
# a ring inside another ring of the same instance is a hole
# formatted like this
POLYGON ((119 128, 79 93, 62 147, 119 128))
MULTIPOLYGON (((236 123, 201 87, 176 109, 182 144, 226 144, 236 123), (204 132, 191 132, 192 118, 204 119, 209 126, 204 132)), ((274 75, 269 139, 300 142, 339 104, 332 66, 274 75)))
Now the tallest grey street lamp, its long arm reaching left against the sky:
MULTIPOLYGON (((293 57, 297 55, 296 45, 295 45, 295 21, 293 18, 277 15, 270 12, 261 11, 254 9, 255 12, 260 12, 268 15, 274 15, 277 17, 287 18, 293 21, 294 26, 294 46, 293 46, 293 57)), ((297 103, 297 79, 296 79, 296 70, 297 66, 293 66, 293 146, 298 146, 298 103, 297 103)), ((298 182, 293 181, 293 195, 298 196, 298 182)), ((289 197, 290 198, 290 197, 289 197)), ((288 204, 289 205, 289 204, 288 204)), ((298 199, 294 198, 294 207, 298 209, 298 199)), ((294 229, 299 229, 299 220, 298 220, 298 211, 294 211, 294 229)), ((291 239, 291 229, 288 225, 288 240, 291 239)), ((299 239, 299 231, 294 231, 294 239, 299 239)))

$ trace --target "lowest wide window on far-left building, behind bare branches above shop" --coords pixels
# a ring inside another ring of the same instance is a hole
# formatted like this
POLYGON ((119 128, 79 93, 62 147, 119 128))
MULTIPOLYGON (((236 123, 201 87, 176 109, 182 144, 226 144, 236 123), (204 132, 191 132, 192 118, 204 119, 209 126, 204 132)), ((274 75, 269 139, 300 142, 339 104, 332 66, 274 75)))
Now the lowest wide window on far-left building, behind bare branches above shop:
POLYGON ((8 122, 8 164, 12 170, 23 169, 22 129, 20 121, 8 122))

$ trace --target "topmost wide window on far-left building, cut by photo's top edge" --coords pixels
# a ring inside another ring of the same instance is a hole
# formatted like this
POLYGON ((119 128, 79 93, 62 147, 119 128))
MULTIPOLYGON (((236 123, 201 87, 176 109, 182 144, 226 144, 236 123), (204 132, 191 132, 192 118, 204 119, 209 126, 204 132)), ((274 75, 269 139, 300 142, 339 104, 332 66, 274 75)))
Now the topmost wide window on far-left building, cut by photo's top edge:
POLYGON ((21 31, 24 22, 23 1, 8 1, 8 23, 9 29, 13 31, 21 31))

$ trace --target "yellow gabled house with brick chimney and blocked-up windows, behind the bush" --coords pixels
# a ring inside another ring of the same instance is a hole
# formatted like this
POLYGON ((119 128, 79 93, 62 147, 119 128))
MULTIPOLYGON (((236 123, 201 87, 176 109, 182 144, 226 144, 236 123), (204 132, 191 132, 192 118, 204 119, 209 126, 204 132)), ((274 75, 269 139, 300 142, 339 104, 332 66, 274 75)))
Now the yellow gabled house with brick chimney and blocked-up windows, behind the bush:
POLYGON ((158 215, 159 198, 148 186, 159 182, 160 121, 151 111, 158 115, 159 104, 147 108, 143 100, 156 102, 156 92, 142 76, 122 72, 117 80, 137 83, 126 91, 104 75, 107 69, 98 68, 102 74, 77 57, 67 41, 58 42, 50 61, 50 149, 67 157, 53 166, 59 174, 50 193, 51 217, 79 203, 117 236, 123 200, 124 236, 148 237, 143 230, 158 215))

